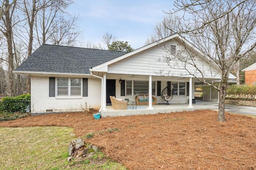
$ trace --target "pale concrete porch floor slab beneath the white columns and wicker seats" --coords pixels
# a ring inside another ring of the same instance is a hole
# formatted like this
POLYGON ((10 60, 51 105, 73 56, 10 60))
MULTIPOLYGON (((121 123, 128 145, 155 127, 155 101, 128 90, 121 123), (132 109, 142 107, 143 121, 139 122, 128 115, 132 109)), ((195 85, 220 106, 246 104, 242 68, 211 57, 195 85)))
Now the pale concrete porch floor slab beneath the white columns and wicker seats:
MULTIPOLYGON (((114 110, 112 106, 106 106, 107 111, 101 112, 101 117, 115 117, 115 116, 130 116, 130 115, 149 115, 157 113, 171 113, 171 112, 182 112, 182 111, 194 111, 201 109, 218 110, 218 103, 205 102, 196 100, 196 104, 192 104, 194 108, 188 108, 186 104, 170 104, 170 105, 152 105, 153 110, 147 109, 148 106, 144 105, 145 109, 127 109, 127 110, 114 110)), ((132 105, 128 105, 132 107, 132 105)), ((139 107, 139 106, 138 106, 139 107)))

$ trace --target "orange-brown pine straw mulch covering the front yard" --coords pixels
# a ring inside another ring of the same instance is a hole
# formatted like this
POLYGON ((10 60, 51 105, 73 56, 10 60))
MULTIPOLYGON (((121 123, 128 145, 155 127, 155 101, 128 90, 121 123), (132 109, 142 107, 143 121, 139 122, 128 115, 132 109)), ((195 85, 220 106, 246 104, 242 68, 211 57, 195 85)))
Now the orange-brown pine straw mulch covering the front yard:
POLYGON ((86 142, 132 170, 256 169, 256 119, 197 110, 157 115, 94 119, 85 113, 29 116, 0 127, 64 126, 77 136, 96 132, 86 142), (118 128, 116 132, 104 132, 118 128), (105 130, 106 131, 106 130, 105 130))

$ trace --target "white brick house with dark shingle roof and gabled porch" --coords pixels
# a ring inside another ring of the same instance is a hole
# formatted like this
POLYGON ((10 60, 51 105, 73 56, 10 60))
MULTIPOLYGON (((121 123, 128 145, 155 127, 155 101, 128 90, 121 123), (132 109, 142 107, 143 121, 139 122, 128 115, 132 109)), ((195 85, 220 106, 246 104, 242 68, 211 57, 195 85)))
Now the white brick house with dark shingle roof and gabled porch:
MULTIPOLYGON (((106 105, 111 104, 110 95, 130 99, 128 104, 132 104, 136 95, 148 94, 150 98, 157 97, 156 103, 165 103, 161 91, 167 84, 175 91, 170 103, 187 103, 194 98, 192 89, 197 80, 185 69, 171 69, 158 61, 168 56, 166 46, 171 47, 171 53, 184 49, 181 42, 194 51, 197 66, 204 68, 209 82, 221 78, 219 69, 178 34, 130 53, 41 45, 14 73, 31 77, 32 113, 81 111, 80 106, 85 103, 104 112, 106 105)), ((190 71, 195 70, 191 67, 190 71)), ((154 109, 151 101, 148 109, 154 109)))

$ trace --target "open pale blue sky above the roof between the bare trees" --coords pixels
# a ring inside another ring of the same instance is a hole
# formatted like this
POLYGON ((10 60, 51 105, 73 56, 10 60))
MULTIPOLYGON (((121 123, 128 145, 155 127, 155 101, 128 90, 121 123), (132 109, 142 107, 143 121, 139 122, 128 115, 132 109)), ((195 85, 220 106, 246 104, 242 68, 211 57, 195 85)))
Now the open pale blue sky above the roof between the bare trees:
POLYGON ((164 11, 172 10, 173 3, 174 0, 74 0, 68 12, 79 14, 77 25, 83 42, 98 45, 108 32, 138 49, 163 20, 164 11))

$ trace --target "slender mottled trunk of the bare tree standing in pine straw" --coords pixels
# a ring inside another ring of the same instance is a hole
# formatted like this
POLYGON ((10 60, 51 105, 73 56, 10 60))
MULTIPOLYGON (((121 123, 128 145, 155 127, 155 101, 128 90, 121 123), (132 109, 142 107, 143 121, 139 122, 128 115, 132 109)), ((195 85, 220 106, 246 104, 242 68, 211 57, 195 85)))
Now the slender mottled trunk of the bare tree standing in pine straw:
POLYGON ((219 113, 218 122, 225 121, 225 97, 226 97, 226 83, 221 83, 219 92, 219 113))

